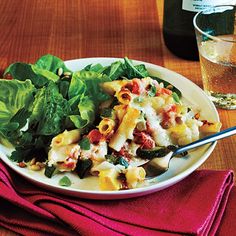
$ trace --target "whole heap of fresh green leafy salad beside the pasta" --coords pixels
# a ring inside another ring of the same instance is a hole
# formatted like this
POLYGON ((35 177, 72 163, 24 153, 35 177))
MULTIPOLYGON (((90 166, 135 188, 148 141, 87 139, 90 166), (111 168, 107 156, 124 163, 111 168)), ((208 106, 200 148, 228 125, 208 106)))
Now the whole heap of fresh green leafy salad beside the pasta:
MULTIPOLYGON (((35 156, 45 161, 53 137, 64 130, 86 133, 95 127, 99 105, 110 98, 100 83, 147 76, 143 64, 134 66, 128 58, 80 71, 71 71, 53 55, 42 56, 35 64, 11 64, 0 79, 0 141, 14 146, 12 161, 27 162, 35 156)), ((180 91, 173 87, 172 91, 178 102, 180 91)))

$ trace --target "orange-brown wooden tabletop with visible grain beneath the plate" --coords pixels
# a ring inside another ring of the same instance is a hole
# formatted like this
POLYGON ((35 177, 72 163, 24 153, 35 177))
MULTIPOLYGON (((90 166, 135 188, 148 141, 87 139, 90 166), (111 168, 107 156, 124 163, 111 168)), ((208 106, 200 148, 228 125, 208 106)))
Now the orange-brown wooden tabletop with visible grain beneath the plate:
MULTIPOLYGON (((174 70, 202 87, 199 62, 172 55, 162 39, 163 0, 1 0, 0 73, 50 53, 64 60, 124 57, 174 70)), ((236 110, 218 110, 223 129, 236 110)), ((218 142, 200 169, 236 171, 236 136, 218 142)), ((0 235, 12 235, 0 228, 0 235)))

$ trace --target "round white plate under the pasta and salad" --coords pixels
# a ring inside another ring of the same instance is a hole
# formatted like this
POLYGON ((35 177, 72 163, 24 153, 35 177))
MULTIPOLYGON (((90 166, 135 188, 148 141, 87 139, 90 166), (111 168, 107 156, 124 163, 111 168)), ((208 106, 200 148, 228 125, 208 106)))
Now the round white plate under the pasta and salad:
MULTIPOLYGON (((84 58, 66 61, 66 66, 72 71, 75 71, 80 70, 89 64, 101 63, 102 65, 110 65, 112 62, 117 60, 123 59, 84 58)), ((219 121, 219 116, 213 103, 208 99, 203 90, 190 80, 173 71, 154 64, 142 61, 133 61, 133 63, 145 64, 150 74, 158 76, 176 86, 182 92, 184 99, 189 100, 200 109, 201 117, 211 121, 219 121)), ((206 161, 215 145, 216 143, 198 148, 197 150, 192 151, 188 158, 173 158, 169 170, 165 174, 157 177, 154 183, 145 187, 124 191, 99 191, 96 185, 96 177, 85 178, 81 181, 78 176, 71 173, 67 173, 67 175, 72 180, 72 185, 70 187, 62 187, 58 185, 58 181, 62 175, 55 175, 49 179, 44 176, 42 172, 31 171, 28 168, 20 168, 8 159, 7 155, 9 155, 11 150, 3 146, 0 146, 0 156, 1 159, 18 174, 34 184, 48 190, 69 196, 90 199, 122 199, 153 193, 181 181, 206 161)))

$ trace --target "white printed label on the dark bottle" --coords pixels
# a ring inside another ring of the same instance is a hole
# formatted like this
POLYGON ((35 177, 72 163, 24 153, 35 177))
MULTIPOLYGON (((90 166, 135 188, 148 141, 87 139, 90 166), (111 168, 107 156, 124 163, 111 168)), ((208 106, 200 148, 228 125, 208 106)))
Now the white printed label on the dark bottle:
POLYGON ((215 5, 236 4, 236 0, 183 0, 182 9, 186 11, 199 12, 207 7, 215 5))

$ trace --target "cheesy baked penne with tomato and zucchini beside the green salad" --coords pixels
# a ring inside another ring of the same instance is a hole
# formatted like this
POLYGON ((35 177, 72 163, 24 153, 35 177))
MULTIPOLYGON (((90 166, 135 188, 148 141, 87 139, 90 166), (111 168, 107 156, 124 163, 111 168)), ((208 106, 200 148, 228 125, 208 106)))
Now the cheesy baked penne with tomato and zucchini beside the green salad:
POLYGON ((199 139, 201 130, 215 126, 196 119, 193 110, 150 77, 105 82, 101 87, 112 99, 101 104, 97 127, 82 137, 79 130, 64 131, 53 138, 48 156, 49 165, 60 171, 73 171, 78 161, 90 161, 89 174, 98 176, 101 190, 136 188, 144 181, 145 170, 130 165, 139 158, 139 148, 185 145, 199 139))

